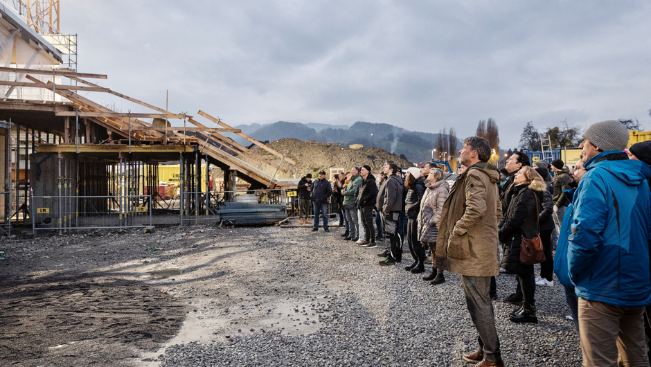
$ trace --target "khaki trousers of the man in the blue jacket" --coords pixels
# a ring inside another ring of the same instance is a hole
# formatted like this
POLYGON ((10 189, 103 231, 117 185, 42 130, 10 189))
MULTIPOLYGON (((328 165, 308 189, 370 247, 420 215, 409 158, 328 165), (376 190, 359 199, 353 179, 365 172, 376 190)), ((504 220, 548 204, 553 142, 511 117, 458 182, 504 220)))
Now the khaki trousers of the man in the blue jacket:
POLYGON ((644 307, 618 307, 579 297, 584 367, 649 366, 644 307))

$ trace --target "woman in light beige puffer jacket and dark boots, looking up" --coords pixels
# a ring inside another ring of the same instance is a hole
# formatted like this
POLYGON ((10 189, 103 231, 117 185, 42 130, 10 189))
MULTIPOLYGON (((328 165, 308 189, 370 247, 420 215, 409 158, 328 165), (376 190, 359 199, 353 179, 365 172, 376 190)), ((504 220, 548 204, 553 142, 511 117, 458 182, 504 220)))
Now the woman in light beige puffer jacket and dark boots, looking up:
POLYGON ((431 251, 431 274, 422 277, 422 280, 431 280, 429 284, 437 285, 445 282, 443 269, 436 270, 436 238, 438 238, 438 225, 443 203, 449 194, 450 186, 443 179, 445 172, 432 168, 427 175, 425 194, 420 201, 418 213, 418 240, 429 246, 431 251))

